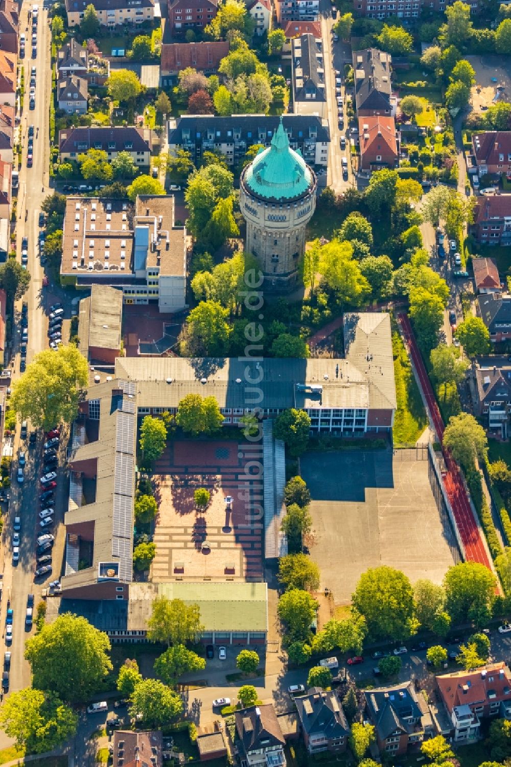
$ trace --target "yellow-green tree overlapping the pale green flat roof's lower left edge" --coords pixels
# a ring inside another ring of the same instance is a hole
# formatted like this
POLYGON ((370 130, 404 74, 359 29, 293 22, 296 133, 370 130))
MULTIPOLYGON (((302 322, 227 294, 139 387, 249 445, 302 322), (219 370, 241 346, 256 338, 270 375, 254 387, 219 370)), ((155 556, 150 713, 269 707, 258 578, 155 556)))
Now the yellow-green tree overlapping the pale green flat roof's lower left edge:
POLYGON ((204 630, 198 604, 186 605, 180 599, 166 597, 157 597, 153 601, 147 628, 150 641, 166 644, 167 647, 196 642, 204 630))

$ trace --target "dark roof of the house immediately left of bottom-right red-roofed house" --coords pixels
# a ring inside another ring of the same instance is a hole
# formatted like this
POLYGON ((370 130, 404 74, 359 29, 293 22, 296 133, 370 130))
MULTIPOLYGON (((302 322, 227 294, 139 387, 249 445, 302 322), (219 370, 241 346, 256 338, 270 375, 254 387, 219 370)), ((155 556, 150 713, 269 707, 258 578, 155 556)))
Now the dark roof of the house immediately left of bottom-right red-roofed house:
POLYGON ((414 685, 411 682, 394 687, 379 687, 364 692, 365 703, 381 740, 392 732, 414 732, 417 725, 406 721, 420 719, 422 712, 417 704, 414 685))

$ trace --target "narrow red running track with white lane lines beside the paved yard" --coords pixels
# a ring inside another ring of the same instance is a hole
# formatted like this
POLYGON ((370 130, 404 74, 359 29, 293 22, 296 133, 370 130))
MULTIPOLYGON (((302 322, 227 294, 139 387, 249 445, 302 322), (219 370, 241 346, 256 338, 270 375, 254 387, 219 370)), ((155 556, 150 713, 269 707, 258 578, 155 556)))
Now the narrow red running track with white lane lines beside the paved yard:
MULTIPOLYGON (((414 361, 420 387, 426 398, 427 407, 430 410, 438 439, 440 439, 441 442, 443 438, 443 420, 442 416, 440 416, 440 410, 438 409, 437 400, 434 396, 433 387, 431 387, 426 367, 424 366, 424 360, 420 356, 420 351, 417 348, 414 331, 412 331, 407 314, 399 314, 398 320, 407 341, 411 358, 414 361)), ((443 482, 447 491, 447 497, 449 498, 450 505, 453 509, 457 528, 460 532, 460 538, 465 548, 466 560, 479 562, 480 565, 486 565, 488 569, 491 569, 490 561, 486 554, 486 548, 483 545, 479 528, 473 518, 472 509, 470 509, 470 502, 466 495, 466 489, 463 486, 460 469, 458 469, 457 463, 454 461, 448 450, 443 450, 443 456, 447 466, 447 475, 444 476, 443 482)))

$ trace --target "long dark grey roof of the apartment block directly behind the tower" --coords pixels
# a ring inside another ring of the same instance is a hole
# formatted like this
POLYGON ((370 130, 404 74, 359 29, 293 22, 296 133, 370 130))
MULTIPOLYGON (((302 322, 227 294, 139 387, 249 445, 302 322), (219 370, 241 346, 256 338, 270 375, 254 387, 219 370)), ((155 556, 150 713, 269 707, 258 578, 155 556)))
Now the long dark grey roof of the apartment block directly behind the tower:
MULTIPOLYGON (((282 118, 289 143, 302 142, 315 135, 317 141, 330 141, 328 125, 315 115, 285 114, 282 118)), ((232 141, 235 130, 247 146, 254 143, 268 144, 279 127, 279 117, 265 114, 237 114, 233 117, 215 117, 213 114, 183 114, 176 120, 176 127, 169 128, 169 144, 182 146, 183 133, 187 142, 210 139, 216 143, 232 141), (230 131, 230 135, 229 135, 230 131)))

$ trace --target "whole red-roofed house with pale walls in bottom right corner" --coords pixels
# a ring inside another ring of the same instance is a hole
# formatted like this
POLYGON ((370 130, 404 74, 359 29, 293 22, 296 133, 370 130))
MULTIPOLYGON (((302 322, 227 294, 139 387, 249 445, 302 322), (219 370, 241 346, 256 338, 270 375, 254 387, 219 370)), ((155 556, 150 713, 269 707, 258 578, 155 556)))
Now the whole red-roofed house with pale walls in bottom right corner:
POLYGON ((511 719, 511 672, 503 661, 442 674, 437 686, 451 718, 454 742, 476 739, 483 717, 511 719))

